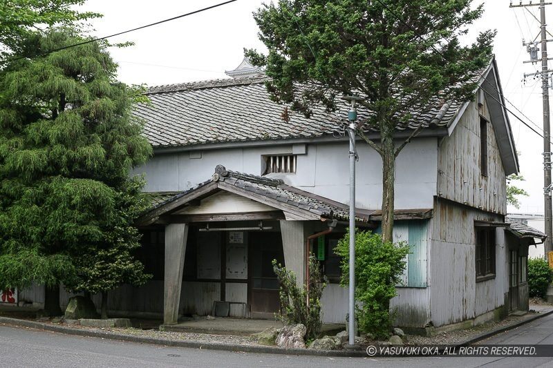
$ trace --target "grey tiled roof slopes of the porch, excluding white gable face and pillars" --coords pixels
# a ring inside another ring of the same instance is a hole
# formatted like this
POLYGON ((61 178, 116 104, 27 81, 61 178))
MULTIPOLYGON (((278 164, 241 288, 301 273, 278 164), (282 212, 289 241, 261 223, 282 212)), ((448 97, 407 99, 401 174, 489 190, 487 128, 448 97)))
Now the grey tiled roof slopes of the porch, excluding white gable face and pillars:
MULTIPOLYGON (((218 191, 227 191, 266 204, 283 212, 287 220, 349 220, 349 207, 313 193, 284 184, 282 180, 230 171, 218 165, 211 180, 194 186, 171 197, 154 202, 153 206, 138 220, 138 225, 151 224, 159 217, 174 214, 187 204, 203 199, 218 191)), ((379 211, 355 210, 356 222, 368 223, 379 220, 379 211), (374 219, 371 215, 374 214, 374 219)), ((400 210, 398 218, 429 218, 431 209, 400 210)))

